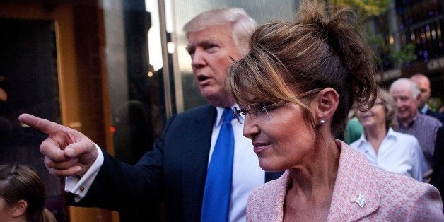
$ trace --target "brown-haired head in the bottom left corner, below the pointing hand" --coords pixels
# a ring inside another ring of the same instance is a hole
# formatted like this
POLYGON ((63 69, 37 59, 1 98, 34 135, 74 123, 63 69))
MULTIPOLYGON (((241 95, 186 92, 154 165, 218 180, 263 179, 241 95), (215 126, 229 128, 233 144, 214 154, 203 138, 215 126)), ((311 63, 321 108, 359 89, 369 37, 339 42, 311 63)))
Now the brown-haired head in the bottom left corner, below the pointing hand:
POLYGON ((24 165, 0 165, 0 221, 55 221, 45 209, 45 186, 24 165))

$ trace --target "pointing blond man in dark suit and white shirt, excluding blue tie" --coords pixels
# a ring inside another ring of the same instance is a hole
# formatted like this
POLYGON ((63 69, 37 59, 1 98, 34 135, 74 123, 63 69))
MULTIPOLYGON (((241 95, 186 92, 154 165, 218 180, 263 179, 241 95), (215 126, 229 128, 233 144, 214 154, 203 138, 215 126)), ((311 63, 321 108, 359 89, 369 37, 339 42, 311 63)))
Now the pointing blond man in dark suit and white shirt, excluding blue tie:
MULTIPOLYGON (((67 177, 71 204, 128 212, 165 201, 167 221, 200 221, 207 168, 222 112, 224 107, 236 106, 226 91, 225 76, 231 59, 248 52, 254 28, 255 21, 240 8, 207 11, 185 25, 194 77, 209 105, 171 117, 153 151, 136 165, 101 151, 74 129, 21 115, 21 122, 49 134, 40 151, 52 174, 67 177)), ((243 125, 232 122, 235 144, 227 214, 228 221, 245 221, 248 194, 279 173, 259 168, 250 139, 241 134, 243 125)), ((149 221, 149 215, 139 220, 149 221)))

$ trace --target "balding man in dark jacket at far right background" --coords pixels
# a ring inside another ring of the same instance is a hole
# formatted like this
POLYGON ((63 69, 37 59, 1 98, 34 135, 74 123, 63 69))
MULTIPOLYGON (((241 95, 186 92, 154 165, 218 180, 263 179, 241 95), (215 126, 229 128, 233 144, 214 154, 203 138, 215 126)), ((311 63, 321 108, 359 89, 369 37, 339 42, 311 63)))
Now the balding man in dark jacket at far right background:
POLYGON ((430 110, 427 105, 427 100, 431 95, 430 88, 430 80, 428 80, 427 76, 424 74, 414 74, 410 77, 411 81, 416 83, 416 86, 419 88, 419 97, 418 97, 418 109, 422 114, 429 115, 431 117, 435 117, 441 123, 444 123, 444 115, 430 110))

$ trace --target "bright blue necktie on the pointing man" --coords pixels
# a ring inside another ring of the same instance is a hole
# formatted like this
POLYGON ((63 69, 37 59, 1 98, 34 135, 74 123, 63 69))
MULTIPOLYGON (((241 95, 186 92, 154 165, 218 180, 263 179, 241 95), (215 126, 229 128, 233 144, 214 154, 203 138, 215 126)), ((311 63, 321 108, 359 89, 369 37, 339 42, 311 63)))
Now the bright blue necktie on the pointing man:
POLYGON ((221 131, 206 174, 202 222, 228 221, 234 156, 234 134, 231 126, 233 110, 225 108, 222 117, 221 131))

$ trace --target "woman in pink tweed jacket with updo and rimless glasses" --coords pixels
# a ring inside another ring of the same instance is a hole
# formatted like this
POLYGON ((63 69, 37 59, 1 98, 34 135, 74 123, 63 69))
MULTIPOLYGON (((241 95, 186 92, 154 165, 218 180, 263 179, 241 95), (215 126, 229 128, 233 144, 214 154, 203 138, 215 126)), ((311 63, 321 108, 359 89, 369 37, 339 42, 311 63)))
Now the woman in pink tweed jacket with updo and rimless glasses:
POLYGON ((259 165, 285 173, 255 189, 247 221, 444 221, 436 187, 380 170, 343 141, 351 105, 376 100, 372 58, 349 11, 304 1, 296 23, 271 21, 226 77, 259 165))

